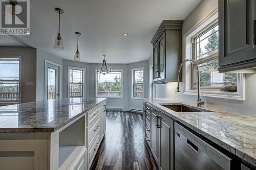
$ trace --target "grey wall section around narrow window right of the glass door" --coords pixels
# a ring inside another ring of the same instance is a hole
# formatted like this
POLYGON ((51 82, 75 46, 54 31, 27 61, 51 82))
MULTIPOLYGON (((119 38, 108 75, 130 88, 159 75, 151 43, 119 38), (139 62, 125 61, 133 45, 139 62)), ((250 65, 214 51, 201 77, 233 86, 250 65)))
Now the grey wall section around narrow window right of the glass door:
POLYGON ((90 73, 90 64, 84 63, 84 62, 72 61, 72 60, 63 60, 62 98, 68 98, 69 66, 86 68, 86 81, 84 82, 84 85, 86 86, 86 96, 85 97, 90 98, 90 76, 93 75, 90 73))

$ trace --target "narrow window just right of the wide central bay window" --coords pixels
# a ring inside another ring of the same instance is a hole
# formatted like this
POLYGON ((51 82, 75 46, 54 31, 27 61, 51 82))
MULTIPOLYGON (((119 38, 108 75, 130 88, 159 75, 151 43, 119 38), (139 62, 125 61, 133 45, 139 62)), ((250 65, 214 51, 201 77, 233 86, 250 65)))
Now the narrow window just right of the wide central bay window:
POLYGON ((132 69, 132 98, 144 98, 144 68, 132 69))

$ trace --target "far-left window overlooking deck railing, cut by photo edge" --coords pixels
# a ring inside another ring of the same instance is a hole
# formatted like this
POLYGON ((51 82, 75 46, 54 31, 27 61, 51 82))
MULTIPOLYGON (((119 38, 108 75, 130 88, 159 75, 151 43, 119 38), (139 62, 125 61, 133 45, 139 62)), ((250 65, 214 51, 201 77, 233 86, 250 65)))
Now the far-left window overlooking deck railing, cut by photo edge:
POLYGON ((0 58, 0 102, 19 103, 19 58, 0 58))

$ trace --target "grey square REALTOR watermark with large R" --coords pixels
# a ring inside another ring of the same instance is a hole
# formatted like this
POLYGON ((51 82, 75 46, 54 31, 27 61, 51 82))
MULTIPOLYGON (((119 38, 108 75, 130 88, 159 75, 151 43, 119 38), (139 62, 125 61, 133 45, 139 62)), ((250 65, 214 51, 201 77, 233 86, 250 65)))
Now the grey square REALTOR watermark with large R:
POLYGON ((30 32, 29 0, 1 0, 0 35, 28 35, 30 32))

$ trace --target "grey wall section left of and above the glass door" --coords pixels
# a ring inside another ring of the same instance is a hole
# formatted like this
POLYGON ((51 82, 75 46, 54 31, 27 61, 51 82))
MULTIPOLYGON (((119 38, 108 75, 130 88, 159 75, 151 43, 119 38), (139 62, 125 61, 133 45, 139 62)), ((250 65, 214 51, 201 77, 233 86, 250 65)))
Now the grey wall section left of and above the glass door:
POLYGON ((63 65, 63 59, 40 48, 36 50, 36 101, 44 100, 45 60, 63 65))

